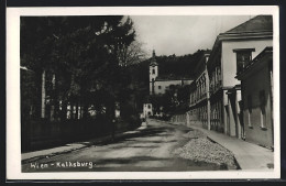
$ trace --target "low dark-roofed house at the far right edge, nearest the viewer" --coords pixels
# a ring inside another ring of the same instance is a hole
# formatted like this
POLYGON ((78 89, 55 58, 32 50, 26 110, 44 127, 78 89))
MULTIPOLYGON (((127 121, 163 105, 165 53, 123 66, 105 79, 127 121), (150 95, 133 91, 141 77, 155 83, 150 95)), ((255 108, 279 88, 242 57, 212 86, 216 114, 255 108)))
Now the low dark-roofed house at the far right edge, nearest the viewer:
POLYGON ((265 47, 253 61, 238 63, 245 140, 273 147, 273 47, 265 47))

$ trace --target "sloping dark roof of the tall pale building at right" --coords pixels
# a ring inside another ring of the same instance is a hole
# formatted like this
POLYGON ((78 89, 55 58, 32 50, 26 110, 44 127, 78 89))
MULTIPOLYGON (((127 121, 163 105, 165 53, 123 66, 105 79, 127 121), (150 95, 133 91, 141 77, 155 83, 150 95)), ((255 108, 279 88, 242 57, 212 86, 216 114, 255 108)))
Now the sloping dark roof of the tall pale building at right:
POLYGON ((273 31, 272 15, 257 15, 226 33, 241 33, 241 32, 257 32, 257 31, 273 31))

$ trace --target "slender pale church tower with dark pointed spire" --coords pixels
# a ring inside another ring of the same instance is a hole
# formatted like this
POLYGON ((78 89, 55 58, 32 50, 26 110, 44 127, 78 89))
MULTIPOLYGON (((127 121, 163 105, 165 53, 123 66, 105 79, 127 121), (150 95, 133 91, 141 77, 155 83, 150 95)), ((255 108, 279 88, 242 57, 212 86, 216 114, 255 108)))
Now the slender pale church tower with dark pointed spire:
POLYGON ((156 63, 156 55, 155 55, 155 51, 153 50, 153 55, 151 58, 151 63, 148 66, 150 69, 150 95, 154 95, 154 90, 155 90, 155 80, 158 76, 158 64, 156 63))

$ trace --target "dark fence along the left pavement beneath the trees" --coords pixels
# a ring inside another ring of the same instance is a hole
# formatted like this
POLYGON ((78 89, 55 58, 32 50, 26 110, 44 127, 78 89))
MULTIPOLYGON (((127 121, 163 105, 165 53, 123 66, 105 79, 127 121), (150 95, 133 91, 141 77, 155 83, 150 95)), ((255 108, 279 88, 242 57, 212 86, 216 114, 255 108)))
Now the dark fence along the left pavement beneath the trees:
MULTIPOLYGON (((138 121, 130 124, 118 121, 114 130, 128 131, 140 125, 138 121)), ((48 121, 44 119, 22 121, 22 152, 63 145, 69 142, 84 141, 111 135, 112 124, 107 119, 48 121)))

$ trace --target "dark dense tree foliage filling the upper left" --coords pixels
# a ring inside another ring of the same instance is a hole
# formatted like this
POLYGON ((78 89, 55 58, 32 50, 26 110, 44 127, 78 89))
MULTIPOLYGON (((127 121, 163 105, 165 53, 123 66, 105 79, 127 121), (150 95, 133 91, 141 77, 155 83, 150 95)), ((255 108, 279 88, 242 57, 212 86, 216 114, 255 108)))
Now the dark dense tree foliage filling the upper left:
MULTIPOLYGON (((81 105, 86 111, 94 106, 112 118, 114 102, 134 94, 127 64, 142 56, 134 53, 130 59, 127 53, 135 46, 140 51, 130 18, 22 17, 20 36, 21 66, 35 73, 38 89, 43 70, 55 74, 56 102, 81 105)), ((34 97, 37 106, 38 98, 34 97)))

